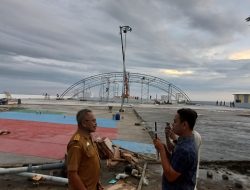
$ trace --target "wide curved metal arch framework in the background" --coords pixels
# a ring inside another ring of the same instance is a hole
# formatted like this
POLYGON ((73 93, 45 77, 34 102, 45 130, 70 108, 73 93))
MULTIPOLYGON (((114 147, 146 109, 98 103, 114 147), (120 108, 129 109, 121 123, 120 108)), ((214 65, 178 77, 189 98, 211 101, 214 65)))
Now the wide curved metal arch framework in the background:
MULTIPOLYGON (((126 75, 128 77, 129 87, 132 83, 139 84, 141 95, 137 97, 137 99, 141 103, 148 102, 149 99, 151 99, 149 96, 149 89, 152 87, 164 92, 165 101, 167 103, 183 103, 190 101, 190 98, 185 92, 164 79, 141 73, 126 72, 126 75)), ((122 84, 123 72, 93 75, 71 85, 60 95, 59 99, 64 99, 67 96, 70 99, 90 100, 89 94, 91 93, 91 89, 99 87, 99 100, 112 101, 114 97, 121 98, 120 95, 122 93, 120 92, 121 90, 119 90, 119 86, 122 87, 122 84)), ((127 101, 128 99, 129 98, 127 98, 127 101)))

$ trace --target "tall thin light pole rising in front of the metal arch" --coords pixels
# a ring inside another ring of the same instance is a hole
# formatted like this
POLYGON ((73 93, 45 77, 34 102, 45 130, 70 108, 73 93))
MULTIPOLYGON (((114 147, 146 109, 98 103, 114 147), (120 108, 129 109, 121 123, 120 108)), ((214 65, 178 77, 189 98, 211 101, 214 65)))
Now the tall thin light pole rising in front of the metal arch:
MULTIPOLYGON (((121 44, 122 44, 122 64, 123 64, 123 85, 122 85, 122 102, 121 102, 121 109, 120 112, 123 111, 123 104, 124 99, 127 94, 125 94, 126 82, 127 81, 127 73, 126 73, 126 66, 125 66, 125 50, 126 50, 126 34, 127 32, 131 32, 132 28, 130 26, 120 26, 120 35, 121 35, 121 44), (123 45, 123 34, 125 35, 125 48, 123 45)), ((128 89, 127 89, 128 90, 128 89)), ((126 91, 127 92, 127 91, 126 91)))

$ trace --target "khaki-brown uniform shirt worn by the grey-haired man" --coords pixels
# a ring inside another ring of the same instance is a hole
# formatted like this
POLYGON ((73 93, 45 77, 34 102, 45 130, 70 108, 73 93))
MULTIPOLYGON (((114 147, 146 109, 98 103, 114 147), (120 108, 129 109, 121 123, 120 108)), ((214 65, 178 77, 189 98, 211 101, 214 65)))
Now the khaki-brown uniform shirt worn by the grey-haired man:
MULTIPOLYGON (((96 190, 100 177, 100 159, 91 136, 78 129, 68 143, 67 154, 67 170, 77 171, 86 188, 96 190)), ((69 189, 72 190, 70 182, 69 189)))

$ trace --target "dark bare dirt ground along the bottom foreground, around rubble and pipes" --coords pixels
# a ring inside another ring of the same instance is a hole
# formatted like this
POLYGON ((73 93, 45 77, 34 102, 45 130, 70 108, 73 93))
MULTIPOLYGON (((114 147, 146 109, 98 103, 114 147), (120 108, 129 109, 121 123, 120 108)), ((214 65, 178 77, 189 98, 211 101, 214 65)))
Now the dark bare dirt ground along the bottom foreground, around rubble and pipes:
MULTIPOLYGON (((238 163, 240 164, 240 163, 238 163)), ((109 181, 115 179, 115 176, 119 173, 124 172, 124 168, 127 163, 119 163, 117 166, 108 168, 106 166, 106 161, 102 161, 102 173, 101 173, 101 181, 105 189, 109 189, 110 187, 115 187, 114 185, 110 185, 109 181), (109 187, 109 188, 108 188, 109 187)), ((235 164, 207 164, 202 165, 200 175, 202 178, 198 180, 198 190, 238 190, 245 189, 249 190, 249 184, 246 184, 247 177, 243 177, 240 172, 229 170, 226 167, 234 167, 235 164), (213 178, 206 177, 207 171, 213 173, 213 178), (226 174, 229 179, 223 180, 222 174, 226 174), (236 186, 237 180, 242 184, 242 188, 236 186), (245 181, 244 181, 245 180, 245 181)), ((243 163, 242 167, 248 168, 248 172, 250 170, 249 163, 243 163)), ((143 184, 142 190, 159 190, 161 189, 161 168, 159 164, 148 164, 145 176, 149 182, 148 185, 143 184)), ((40 173, 44 174, 52 174, 52 172, 44 172, 40 173)), ((54 170, 53 175, 61 176, 61 171, 54 170)), ((249 173, 248 173, 249 178, 249 173)), ((123 184, 122 188, 113 188, 112 190, 132 190, 136 189, 140 182, 140 178, 135 178, 129 176, 124 180, 119 180, 116 184, 123 184)), ((17 176, 17 175, 1 175, 0 176, 0 184, 1 190, 67 190, 67 186, 60 185, 51 181, 33 181, 27 177, 17 176)))

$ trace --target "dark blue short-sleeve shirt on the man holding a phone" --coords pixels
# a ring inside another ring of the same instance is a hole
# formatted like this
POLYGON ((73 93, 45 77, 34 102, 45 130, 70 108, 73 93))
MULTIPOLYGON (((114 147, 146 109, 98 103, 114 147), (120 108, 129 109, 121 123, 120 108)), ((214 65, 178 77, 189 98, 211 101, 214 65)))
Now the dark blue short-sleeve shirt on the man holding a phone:
POLYGON ((197 152, 193 137, 180 137, 170 158, 172 168, 181 173, 174 182, 163 174, 163 190, 193 190, 196 183, 197 152))

